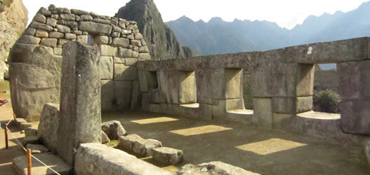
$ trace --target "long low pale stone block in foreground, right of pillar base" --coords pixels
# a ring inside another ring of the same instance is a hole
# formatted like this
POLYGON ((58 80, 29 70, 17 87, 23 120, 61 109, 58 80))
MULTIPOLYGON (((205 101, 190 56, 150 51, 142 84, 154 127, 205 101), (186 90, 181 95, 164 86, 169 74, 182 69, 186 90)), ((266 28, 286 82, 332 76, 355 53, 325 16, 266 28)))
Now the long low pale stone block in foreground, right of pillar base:
POLYGON ((102 144, 81 144, 74 174, 171 174, 124 151, 102 144))

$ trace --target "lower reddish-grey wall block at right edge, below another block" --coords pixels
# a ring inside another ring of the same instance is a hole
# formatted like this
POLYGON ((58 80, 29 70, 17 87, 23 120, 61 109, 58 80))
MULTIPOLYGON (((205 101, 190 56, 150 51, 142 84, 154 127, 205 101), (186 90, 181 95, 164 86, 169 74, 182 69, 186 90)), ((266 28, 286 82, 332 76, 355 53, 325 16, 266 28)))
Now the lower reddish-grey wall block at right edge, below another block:
POLYGON ((341 128, 352 134, 370 134, 370 101, 343 100, 341 128))

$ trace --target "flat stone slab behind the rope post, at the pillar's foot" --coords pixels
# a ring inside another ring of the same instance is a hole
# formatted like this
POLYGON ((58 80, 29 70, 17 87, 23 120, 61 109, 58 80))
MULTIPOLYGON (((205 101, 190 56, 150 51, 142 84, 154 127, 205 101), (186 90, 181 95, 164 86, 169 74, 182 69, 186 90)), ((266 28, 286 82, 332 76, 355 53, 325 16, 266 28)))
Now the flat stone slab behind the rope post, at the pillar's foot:
MULTIPOLYGON (((62 175, 72 174, 72 167, 67 165, 61 158, 52 153, 41 153, 34 155, 39 160, 42 160, 46 165, 54 169, 62 175)), ((13 168, 17 174, 27 174, 27 158, 26 155, 13 159, 13 168)), ((55 174, 51 169, 42 165, 39 161, 32 158, 32 175, 55 174)))

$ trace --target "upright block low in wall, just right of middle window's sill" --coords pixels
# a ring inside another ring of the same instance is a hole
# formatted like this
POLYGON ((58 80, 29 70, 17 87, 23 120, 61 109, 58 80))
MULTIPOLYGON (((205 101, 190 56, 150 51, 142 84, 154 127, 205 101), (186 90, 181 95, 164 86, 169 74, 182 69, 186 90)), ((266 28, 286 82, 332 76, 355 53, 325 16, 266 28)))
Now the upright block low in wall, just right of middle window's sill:
POLYGON ((272 127, 272 99, 270 98, 253 98, 253 118, 263 127, 272 127))

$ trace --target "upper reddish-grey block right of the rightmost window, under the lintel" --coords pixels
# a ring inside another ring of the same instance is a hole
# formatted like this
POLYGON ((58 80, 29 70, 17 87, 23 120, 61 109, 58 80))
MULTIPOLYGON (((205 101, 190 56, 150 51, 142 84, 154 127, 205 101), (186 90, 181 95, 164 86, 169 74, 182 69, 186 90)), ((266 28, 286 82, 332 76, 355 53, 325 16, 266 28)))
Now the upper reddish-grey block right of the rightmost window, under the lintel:
POLYGON ((370 100, 370 61, 342 62, 338 68, 338 90, 342 99, 370 100))

